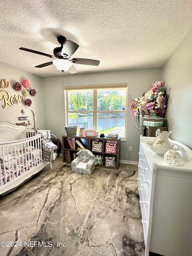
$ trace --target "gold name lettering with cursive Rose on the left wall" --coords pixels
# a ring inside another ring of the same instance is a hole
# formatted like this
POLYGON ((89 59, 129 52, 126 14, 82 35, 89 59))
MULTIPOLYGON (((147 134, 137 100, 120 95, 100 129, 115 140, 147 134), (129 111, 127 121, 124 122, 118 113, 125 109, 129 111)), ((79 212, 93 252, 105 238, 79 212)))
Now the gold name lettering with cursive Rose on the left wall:
MULTIPOLYGON (((1 80, 1 87, 0 89, 5 89, 8 88, 9 82, 7 83, 6 79, 1 80)), ((0 100, 4 101, 3 108, 6 108, 7 105, 13 106, 15 104, 18 104, 19 102, 23 101, 23 96, 21 94, 10 96, 9 92, 6 90, 1 90, 0 91, 0 100)))

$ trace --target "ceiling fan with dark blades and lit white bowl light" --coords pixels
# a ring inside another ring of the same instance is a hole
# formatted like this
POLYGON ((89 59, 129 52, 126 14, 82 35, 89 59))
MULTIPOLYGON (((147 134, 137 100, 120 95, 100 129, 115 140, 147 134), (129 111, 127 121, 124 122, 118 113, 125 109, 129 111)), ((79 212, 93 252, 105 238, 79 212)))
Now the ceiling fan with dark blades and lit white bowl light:
POLYGON ((55 65, 56 68, 62 72, 69 70, 70 74, 74 74, 77 72, 76 68, 73 66, 73 63, 76 64, 83 64, 83 65, 92 65, 92 66, 98 66, 100 61, 94 60, 94 59, 79 59, 79 58, 73 58, 69 59, 73 53, 76 52, 79 45, 67 40, 64 36, 58 36, 57 40, 59 44, 61 44, 61 47, 56 47, 53 50, 54 56, 47 54, 47 53, 41 53, 35 50, 27 49, 20 47, 20 50, 27 51, 30 53, 36 53, 40 55, 47 56, 49 58, 53 58, 53 61, 43 63, 41 65, 35 66, 35 68, 43 68, 49 65, 55 65))

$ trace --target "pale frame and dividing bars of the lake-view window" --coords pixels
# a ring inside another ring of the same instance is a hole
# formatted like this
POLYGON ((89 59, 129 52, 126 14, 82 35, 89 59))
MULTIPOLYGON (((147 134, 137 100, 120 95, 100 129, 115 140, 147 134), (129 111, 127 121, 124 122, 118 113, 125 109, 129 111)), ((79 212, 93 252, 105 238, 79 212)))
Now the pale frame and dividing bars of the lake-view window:
MULTIPOLYGON (((125 113, 125 137, 121 137, 121 140, 126 141, 127 138, 127 119, 128 119, 128 83, 118 83, 118 84, 103 84, 103 85, 87 85, 87 86, 65 86, 64 87, 64 95, 65 95, 65 116, 66 116, 66 126, 69 125, 69 114, 70 113, 93 113, 93 129, 97 129, 97 116, 98 113, 125 113), (110 90, 110 89, 125 89, 126 90, 126 106, 125 110, 105 110, 105 111, 98 111, 97 109, 97 95, 98 90, 110 90), (88 91, 91 90, 93 92, 93 110, 78 110, 78 111, 70 111, 69 110, 69 92, 77 92, 77 91, 88 91)), ((80 128, 80 127, 79 127, 80 128)))

